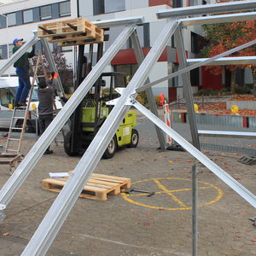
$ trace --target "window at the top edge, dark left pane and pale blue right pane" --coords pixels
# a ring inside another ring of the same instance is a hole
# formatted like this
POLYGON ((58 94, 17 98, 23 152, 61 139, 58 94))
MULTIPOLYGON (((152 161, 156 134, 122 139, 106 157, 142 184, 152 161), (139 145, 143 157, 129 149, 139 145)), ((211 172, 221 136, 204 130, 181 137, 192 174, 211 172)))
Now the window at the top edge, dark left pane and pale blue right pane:
POLYGON ((94 15, 102 15, 125 10, 125 0, 94 0, 94 15))

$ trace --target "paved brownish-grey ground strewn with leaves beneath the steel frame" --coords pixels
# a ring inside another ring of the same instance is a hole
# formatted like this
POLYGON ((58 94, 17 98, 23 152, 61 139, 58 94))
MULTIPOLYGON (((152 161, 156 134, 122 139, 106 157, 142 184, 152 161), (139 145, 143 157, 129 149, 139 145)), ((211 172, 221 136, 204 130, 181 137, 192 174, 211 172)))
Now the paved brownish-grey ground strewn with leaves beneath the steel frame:
MULTIPOLYGON (((191 166, 198 162, 185 152, 157 150, 154 135, 139 132, 137 148, 100 160, 95 172, 129 177, 132 189, 155 194, 109 195, 108 201, 79 198, 47 255, 191 255, 191 166)), ((22 153, 33 143, 26 137, 22 153)), ((52 148, 54 154, 39 160, 9 202, 0 224, 1 256, 22 253, 55 201, 58 194, 42 189, 41 180, 49 172, 69 172, 79 162, 79 157, 67 157, 61 143, 52 148)), ((239 163, 237 154, 206 154, 255 194, 255 166, 239 163)), ((2 187, 9 174, 7 166, 0 169, 2 187)), ((198 179, 198 255, 256 255, 256 230, 248 219, 255 209, 201 164, 198 179)))

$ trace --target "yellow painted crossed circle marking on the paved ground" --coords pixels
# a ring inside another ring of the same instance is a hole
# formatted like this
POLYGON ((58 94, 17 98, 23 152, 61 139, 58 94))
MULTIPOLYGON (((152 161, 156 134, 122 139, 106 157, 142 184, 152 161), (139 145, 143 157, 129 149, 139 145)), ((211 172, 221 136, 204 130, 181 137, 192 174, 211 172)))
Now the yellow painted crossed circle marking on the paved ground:
MULTIPOLYGON (((125 201, 129 201, 137 206, 140 207, 147 207, 147 208, 151 208, 151 209, 158 209, 158 210, 169 210, 169 211, 183 211, 183 210, 191 210, 191 207, 187 206, 177 195, 174 195, 174 193, 179 194, 180 192, 190 192, 189 193, 189 197, 191 198, 191 190, 190 188, 184 188, 184 189, 169 189, 166 184, 164 185, 163 183, 166 181, 176 181, 176 182, 185 182, 185 184, 183 184, 183 186, 185 186, 186 184, 189 184, 189 186, 191 186, 191 180, 188 178, 181 178, 181 177, 157 177, 157 178, 149 178, 149 179, 143 179, 143 180, 139 180, 135 183, 131 183, 132 185, 138 184, 138 183, 142 183, 143 186, 145 187, 145 183, 147 188, 150 188, 150 183, 151 183, 151 187, 152 185, 157 185, 157 187, 160 189, 160 191, 154 191, 155 195, 168 195, 172 201, 174 201, 175 203, 177 203, 177 205, 179 207, 157 207, 157 206, 152 206, 149 205, 148 203, 143 203, 140 201, 140 199, 142 199, 142 196, 148 195, 146 193, 136 193, 136 194, 125 194, 122 193, 121 195, 123 196, 123 198, 125 199, 125 201)), ((211 183, 206 183, 206 182, 202 182, 202 181, 198 181, 198 189, 214 189, 217 192, 217 196, 215 196, 212 200, 207 201, 204 204, 199 205, 198 207, 203 207, 203 206, 207 206, 207 205, 212 205, 213 203, 219 201, 222 196, 223 196, 223 191, 222 189, 219 189, 217 186, 211 184, 211 183)), ((141 189, 143 190, 143 189, 141 189)), ((145 189, 146 190, 146 189, 145 189)), ((147 189, 147 191, 149 191, 150 189, 147 189)), ((213 195, 213 193, 212 193, 213 195)), ((150 201, 154 200, 154 195, 149 197, 150 201)))

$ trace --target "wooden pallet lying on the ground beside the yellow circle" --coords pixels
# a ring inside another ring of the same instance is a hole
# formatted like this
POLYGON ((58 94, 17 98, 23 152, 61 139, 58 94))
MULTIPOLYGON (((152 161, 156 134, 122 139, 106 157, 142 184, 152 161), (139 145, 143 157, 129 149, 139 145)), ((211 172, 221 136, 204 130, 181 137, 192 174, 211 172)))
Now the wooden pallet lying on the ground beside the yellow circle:
MULTIPOLYGON (((42 189, 60 192, 67 183, 68 177, 45 178, 42 180, 42 189)), ((93 173, 84 186, 79 197, 96 201, 107 201, 107 195, 119 195, 125 189, 131 188, 131 179, 93 173)))

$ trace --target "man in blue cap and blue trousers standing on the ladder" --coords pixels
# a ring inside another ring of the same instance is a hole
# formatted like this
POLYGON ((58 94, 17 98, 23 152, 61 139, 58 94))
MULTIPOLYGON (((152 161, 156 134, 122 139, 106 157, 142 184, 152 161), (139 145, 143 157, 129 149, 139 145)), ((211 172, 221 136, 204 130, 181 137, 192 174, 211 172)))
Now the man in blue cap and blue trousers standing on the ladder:
MULTIPOLYGON (((13 44, 13 54, 22 46, 23 38, 15 38, 13 44)), ((19 77, 19 87, 15 96, 15 107, 26 107, 26 97, 31 88, 29 78, 29 61, 28 58, 32 58, 35 55, 35 45, 32 46, 31 52, 26 52, 24 55, 15 61, 14 67, 16 68, 16 74, 19 77)))

